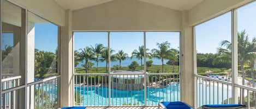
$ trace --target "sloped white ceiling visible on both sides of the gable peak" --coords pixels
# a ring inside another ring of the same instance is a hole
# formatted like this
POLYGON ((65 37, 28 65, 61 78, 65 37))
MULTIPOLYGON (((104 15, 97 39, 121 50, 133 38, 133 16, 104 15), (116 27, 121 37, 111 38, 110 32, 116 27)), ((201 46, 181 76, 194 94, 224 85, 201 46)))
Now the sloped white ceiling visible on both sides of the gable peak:
MULTIPOLYGON (((63 9, 81 9, 113 0, 55 0, 63 9)), ((127 0, 128 1, 128 0, 127 0)), ((138 0, 175 10, 189 10, 204 0, 138 0)))

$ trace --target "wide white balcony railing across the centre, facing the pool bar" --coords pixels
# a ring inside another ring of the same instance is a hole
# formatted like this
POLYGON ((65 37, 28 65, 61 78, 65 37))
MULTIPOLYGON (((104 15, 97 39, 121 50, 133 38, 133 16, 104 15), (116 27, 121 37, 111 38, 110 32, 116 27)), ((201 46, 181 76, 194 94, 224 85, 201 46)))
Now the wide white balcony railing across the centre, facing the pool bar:
POLYGON ((179 73, 75 73, 74 86, 75 105, 87 107, 157 106, 180 100, 179 73))

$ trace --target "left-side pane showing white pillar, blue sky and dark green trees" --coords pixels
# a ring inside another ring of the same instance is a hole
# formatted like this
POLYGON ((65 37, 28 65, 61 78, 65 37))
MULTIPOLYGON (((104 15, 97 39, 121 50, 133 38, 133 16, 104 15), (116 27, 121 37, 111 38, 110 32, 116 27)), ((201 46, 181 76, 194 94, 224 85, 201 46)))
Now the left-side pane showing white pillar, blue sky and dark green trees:
POLYGON ((58 26, 28 12, 28 82, 58 75, 58 26))

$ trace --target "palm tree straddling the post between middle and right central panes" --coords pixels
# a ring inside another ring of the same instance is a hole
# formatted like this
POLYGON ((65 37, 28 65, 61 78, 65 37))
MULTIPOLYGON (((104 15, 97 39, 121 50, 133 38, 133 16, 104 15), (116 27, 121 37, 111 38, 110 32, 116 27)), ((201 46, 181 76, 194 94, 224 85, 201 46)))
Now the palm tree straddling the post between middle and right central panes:
MULTIPOLYGON (((146 54, 147 54, 148 57, 150 57, 150 54, 147 53, 148 50, 149 50, 149 49, 146 49, 146 54)), ((144 57, 144 46, 139 46, 139 49, 138 49, 138 50, 136 50, 136 49, 133 50, 133 52, 132 52, 132 57, 131 57, 131 58, 133 58, 134 56, 135 56, 137 59, 140 60, 140 70, 142 70, 142 59, 143 59, 143 57, 144 57)))

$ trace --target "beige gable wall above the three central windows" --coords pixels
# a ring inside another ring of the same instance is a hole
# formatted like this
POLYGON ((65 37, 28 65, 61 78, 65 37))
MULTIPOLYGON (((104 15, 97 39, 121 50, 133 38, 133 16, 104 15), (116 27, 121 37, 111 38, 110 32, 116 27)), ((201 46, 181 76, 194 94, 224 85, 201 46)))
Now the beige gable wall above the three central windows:
POLYGON ((73 11, 73 30, 181 30, 181 11, 118 0, 73 11))

